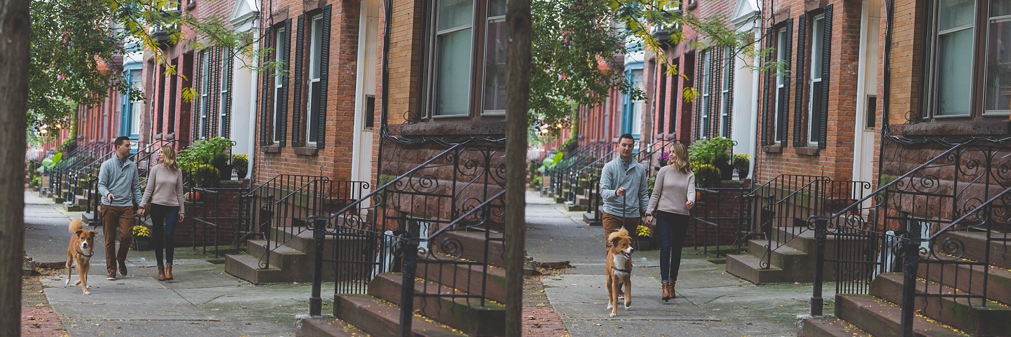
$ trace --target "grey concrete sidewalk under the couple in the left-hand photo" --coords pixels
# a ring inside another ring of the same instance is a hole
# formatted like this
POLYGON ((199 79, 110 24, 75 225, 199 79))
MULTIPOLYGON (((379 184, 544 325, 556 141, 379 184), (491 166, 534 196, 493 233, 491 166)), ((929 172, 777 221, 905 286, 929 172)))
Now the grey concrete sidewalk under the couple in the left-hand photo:
MULTIPOLYGON (((30 202, 25 205, 28 256, 62 264, 70 237, 67 226, 80 214, 62 212, 28 193, 25 201, 30 202)), ((95 245, 104 247, 104 236, 96 239, 95 245)), ((308 313, 311 284, 250 284, 224 272, 223 256, 202 255, 189 247, 176 249, 171 281, 157 279, 153 251, 131 250, 128 275, 114 281, 105 279, 103 249, 91 261, 90 296, 73 285, 76 269, 71 285, 64 283, 66 269, 48 270, 40 278, 70 336, 293 336, 295 315, 308 313)), ((323 288, 333 291, 333 283, 323 288)), ((325 303, 325 311, 331 302, 325 303)))

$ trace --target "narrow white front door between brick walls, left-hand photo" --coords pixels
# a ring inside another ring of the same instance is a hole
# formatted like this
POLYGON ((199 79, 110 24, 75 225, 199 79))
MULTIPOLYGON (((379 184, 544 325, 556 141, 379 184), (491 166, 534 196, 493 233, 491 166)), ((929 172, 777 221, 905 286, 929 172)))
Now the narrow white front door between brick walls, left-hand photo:
POLYGON ((361 21, 358 33, 358 88, 355 99, 355 145, 351 167, 351 179, 372 184, 373 164, 378 160, 373 150, 376 115, 376 62, 379 35, 379 0, 362 2, 361 21))

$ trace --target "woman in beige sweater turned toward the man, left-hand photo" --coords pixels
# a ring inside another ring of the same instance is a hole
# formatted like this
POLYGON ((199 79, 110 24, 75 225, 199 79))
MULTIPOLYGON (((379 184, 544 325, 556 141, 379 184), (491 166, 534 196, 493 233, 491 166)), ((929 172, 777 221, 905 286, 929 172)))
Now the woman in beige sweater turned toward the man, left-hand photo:
POLYGON ((152 231, 155 241, 155 257, 158 259, 158 280, 172 279, 172 253, 174 250, 173 234, 176 224, 181 223, 186 212, 183 207, 183 172, 176 162, 176 150, 164 146, 161 158, 148 175, 148 188, 144 190, 141 201, 141 216, 145 207, 150 206, 155 229, 152 231), (148 202, 151 202, 150 205, 148 202), (163 230, 164 227, 164 230, 163 230), (164 245, 163 245, 164 235, 164 245), (162 248, 165 248, 165 262, 162 264, 162 248))

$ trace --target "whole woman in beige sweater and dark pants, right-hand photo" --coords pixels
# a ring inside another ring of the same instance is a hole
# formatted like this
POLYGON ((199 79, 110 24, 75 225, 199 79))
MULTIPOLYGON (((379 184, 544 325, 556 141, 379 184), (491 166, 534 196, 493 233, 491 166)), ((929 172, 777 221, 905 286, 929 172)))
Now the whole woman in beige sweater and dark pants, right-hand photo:
POLYGON ((681 244, 688 229, 688 210, 695 206, 695 173, 683 144, 670 149, 670 164, 656 173, 653 195, 646 208, 646 225, 656 218, 656 233, 660 238, 660 279, 663 301, 674 296, 677 269, 681 265, 681 244))

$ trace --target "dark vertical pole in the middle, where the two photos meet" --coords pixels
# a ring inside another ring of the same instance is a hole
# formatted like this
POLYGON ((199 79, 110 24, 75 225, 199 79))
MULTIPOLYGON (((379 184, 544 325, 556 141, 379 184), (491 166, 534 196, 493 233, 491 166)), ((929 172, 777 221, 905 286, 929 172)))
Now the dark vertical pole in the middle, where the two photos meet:
POLYGON ((527 110, 530 101, 530 0, 505 11, 505 336, 523 333, 526 249, 527 110))

